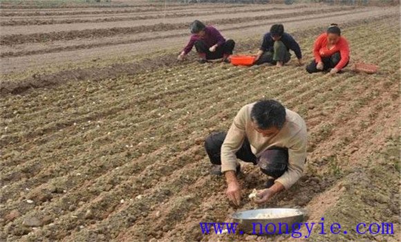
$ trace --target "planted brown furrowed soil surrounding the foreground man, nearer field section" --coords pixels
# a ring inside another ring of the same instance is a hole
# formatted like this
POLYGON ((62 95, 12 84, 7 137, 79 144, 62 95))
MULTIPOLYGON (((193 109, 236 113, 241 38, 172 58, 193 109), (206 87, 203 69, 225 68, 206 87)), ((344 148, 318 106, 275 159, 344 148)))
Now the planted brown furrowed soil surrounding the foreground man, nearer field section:
MULTIPOLYGON (((0 239, 289 239, 206 236, 199 227, 253 207, 246 196, 241 207, 229 205, 225 181, 208 174, 203 139, 261 97, 300 113, 310 136, 305 176, 266 207, 306 207, 315 223, 325 216, 350 226, 362 218, 399 226, 397 19, 344 28, 352 60, 378 64, 374 75, 307 75, 293 62, 281 69, 187 62, 2 96, 0 239)), ((315 37, 297 39, 306 50, 315 37)), ((252 166, 243 172, 244 194, 265 182, 252 166)), ((399 231, 383 239, 395 241, 399 231)), ((371 239, 321 236, 311 240, 371 239)))

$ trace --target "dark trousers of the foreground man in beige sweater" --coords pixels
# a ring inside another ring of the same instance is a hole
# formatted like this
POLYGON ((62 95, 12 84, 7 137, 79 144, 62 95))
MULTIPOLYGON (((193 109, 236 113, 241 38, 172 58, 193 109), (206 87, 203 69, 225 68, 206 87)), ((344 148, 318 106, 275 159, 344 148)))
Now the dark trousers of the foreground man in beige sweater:
MULTIPOLYGON (((226 135, 225 132, 214 133, 205 140, 207 156, 214 165, 221 165, 221 145, 226 135)), ((261 156, 257 157, 252 153, 247 138, 243 141, 241 148, 236 151, 236 158, 259 165, 263 174, 274 178, 279 178, 288 169, 288 149, 273 147, 263 151, 261 156)))

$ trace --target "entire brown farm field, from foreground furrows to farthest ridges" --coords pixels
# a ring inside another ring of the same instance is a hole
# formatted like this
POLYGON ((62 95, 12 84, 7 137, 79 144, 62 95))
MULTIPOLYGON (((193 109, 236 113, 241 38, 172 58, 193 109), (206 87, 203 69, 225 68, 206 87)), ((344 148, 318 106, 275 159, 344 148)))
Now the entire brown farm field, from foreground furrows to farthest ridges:
POLYGON ((309 136, 303 178, 263 207, 302 207, 309 222, 324 217, 349 228, 313 232, 308 241, 398 241, 398 7, 227 5, 223 14, 218 4, 177 3, 164 18, 156 3, 3 4, 0 241, 291 241, 203 235, 199 227, 255 207, 246 194, 265 183, 259 169, 243 164, 243 203, 230 206, 225 180, 209 176, 203 140, 263 97, 303 116, 309 136), (256 53, 280 19, 305 62, 335 21, 350 41, 351 64, 330 76, 308 75, 294 56, 281 69, 201 65, 194 55, 177 63, 197 17, 236 39, 237 53, 256 53), (354 73, 356 61, 380 71, 354 73), (395 234, 351 231, 361 222, 393 223, 395 234))

